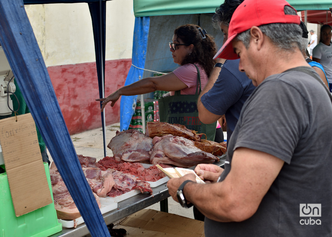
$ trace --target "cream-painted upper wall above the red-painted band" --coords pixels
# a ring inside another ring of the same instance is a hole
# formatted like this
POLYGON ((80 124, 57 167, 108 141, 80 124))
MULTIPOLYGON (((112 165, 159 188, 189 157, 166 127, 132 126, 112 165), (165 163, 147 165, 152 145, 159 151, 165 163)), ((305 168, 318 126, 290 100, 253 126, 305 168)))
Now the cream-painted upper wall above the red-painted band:
MULTIPOLYGON (((132 53, 132 0, 106 3, 106 60, 128 59, 132 53)), ((25 5, 46 67, 95 61, 87 3, 25 5)))

